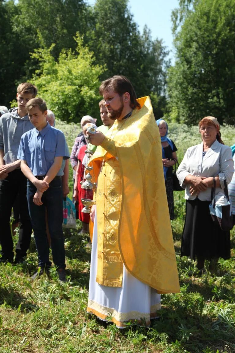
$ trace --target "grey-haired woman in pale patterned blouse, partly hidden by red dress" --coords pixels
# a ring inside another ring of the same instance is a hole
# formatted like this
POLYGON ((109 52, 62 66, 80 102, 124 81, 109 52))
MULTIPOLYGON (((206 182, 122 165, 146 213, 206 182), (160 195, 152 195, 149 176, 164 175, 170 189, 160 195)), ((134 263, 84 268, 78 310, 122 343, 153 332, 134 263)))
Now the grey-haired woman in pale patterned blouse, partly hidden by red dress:
MULTIPOLYGON (((87 124, 87 122, 91 122, 92 124, 95 124, 96 120, 97 119, 94 119, 94 118, 92 118, 89 115, 83 116, 82 119, 81 119, 81 129, 87 124)), ((75 174, 76 174, 76 170, 77 170, 77 167, 78 167, 79 150, 84 145, 86 145, 86 139, 85 139, 84 133, 81 131, 78 134, 78 136, 75 138, 74 145, 73 145, 73 148, 72 148, 72 152, 71 152, 71 155, 70 155, 70 163, 71 163, 71 166, 73 168, 73 184, 75 182, 75 174)), ((76 209, 78 209, 77 201, 75 201, 74 198, 73 198, 73 201, 75 202, 76 209)), ((76 211, 76 219, 78 219, 78 218, 79 218, 78 217, 78 211, 76 211)))

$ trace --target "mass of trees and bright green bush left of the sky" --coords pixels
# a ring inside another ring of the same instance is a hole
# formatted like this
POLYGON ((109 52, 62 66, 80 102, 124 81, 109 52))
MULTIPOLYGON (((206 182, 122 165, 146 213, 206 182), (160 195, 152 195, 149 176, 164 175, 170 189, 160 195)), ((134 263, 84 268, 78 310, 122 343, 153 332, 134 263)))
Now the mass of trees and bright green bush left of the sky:
POLYGON ((0 0, 0 41, 1 104, 9 106, 16 85, 33 79, 39 85, 39 95, 59 118, 78 121, 83 114, 98 111, 97 80, 124 74, 138 96, 151 95, 156 117, 163 115, 168 52, 161 40, 152 40, 147 27, 140 34, 128 0, 97 0, 94 7, 84 0, 0 0), (76 50, 74 37, 78 32, 87 58, 92 57, 79 83, 79 53, 83 49, 76 50), (50 92, 55 86, 56 91, 50 92))

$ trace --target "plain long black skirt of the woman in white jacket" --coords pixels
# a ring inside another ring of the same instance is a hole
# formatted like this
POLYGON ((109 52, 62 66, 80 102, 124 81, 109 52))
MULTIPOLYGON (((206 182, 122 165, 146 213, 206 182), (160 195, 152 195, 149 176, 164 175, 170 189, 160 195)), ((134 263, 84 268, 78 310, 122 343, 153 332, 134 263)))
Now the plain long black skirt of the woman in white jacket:
POLYGON ((212 220, 210 201, 186 200, 186 218, 181 256, 205 259, 230 258, 230 232, 222 231, 212 220))

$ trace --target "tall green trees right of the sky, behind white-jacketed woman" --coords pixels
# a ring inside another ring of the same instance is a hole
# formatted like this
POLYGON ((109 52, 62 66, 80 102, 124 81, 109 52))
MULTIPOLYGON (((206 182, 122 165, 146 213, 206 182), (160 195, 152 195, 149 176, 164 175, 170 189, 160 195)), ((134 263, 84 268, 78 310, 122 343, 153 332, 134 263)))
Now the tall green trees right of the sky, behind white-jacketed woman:
POLYGON ((235 117, 235 0, 180 1, 173 12, 175 65, 168 76, 171 118, 235 117), (181 25, 181 28, 179 28, 181 25))

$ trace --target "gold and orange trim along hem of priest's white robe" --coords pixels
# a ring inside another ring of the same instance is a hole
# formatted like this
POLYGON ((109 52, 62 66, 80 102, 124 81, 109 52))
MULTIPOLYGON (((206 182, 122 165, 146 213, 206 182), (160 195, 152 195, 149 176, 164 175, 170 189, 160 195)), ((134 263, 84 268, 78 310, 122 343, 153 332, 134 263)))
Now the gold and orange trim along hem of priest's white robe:
POLYGON ((150 326, 150 319, 159 317, 157 311, 161 309, 161 303, 151 305, 150 313, 142 313, 139 311, 129 311, 120 313, 116 309, 108 308, 96 303, 93 300, 88 300, 87 312, 94 314, 99 319, 106 322, 113 322, 119 328, 125 328, 127 322, 135 323, 143 327, 150 326))

